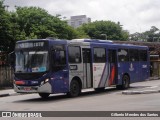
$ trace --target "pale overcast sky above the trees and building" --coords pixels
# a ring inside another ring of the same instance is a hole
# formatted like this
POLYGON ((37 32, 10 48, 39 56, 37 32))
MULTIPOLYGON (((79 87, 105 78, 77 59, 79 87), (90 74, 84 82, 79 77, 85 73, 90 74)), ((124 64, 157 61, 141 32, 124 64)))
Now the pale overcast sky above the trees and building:
POLYGON ((5 0, 8 10, 14 6, 37 6, 52 15, 87 15, 92 21, 120 22, 130 33, 144 32, 151 26, 160 29, 160 0, 5 0))

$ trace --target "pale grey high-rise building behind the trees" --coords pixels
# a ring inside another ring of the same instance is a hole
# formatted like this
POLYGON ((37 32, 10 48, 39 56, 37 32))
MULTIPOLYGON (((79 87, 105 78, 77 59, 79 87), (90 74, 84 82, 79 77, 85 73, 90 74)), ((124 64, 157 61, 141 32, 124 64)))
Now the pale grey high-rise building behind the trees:
POLYGON ((91 22, 91 18, 88 18, 86 15, 71 16, 70 20, 67 22, 68 25, 72 26, 73 28, 77 28, 84 23, 91 22))

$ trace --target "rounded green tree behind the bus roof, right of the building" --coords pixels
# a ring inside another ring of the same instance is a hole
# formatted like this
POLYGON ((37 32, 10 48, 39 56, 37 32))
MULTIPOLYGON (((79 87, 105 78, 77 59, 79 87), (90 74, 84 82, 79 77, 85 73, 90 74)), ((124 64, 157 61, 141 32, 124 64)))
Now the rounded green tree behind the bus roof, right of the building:
POLYGON ((129 34, 127 31, 122 30, 120 24, 111 21, 95 21, 83 24, 77 28, 77 31, 84 31, 86 35, 93 39, 107 37, 109 40, 127 40, 129 34))

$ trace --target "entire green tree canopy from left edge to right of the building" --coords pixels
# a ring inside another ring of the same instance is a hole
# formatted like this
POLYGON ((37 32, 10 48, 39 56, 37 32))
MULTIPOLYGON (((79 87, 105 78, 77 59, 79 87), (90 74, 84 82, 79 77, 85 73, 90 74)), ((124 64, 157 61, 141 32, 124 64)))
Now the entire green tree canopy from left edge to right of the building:
POLYGON ((78 29, 67 25, 60 15, 52 16, 39 7, 16 7, 15 12, 5 10, 0 0, 0 51, 11 52, 17 40, 54 37, 59 39, 97 38, 127 40, 128 32, 111 21, 95 21, 78 29))

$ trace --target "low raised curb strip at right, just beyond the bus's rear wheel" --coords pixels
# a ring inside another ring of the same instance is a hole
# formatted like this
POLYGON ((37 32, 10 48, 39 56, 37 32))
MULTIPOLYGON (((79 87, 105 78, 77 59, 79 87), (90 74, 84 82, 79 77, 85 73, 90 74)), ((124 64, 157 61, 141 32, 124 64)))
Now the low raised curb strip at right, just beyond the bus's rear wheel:
POLYGON ((133 95, 133 94, 150 94, 150 93, 159 93, 160 90, 144 90, 144 91, 123 91, 122 94, 133 95))

